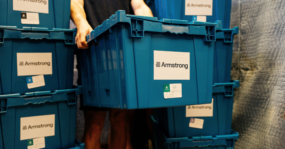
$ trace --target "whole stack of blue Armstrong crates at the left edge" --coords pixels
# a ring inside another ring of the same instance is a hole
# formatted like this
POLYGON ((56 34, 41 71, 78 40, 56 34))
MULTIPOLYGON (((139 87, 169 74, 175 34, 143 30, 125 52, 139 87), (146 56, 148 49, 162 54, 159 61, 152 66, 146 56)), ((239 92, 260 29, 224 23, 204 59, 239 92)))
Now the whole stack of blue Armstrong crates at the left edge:
POLYGON ((0 148, 84 149, 70 1, 2 0, 0 9, 0 148))

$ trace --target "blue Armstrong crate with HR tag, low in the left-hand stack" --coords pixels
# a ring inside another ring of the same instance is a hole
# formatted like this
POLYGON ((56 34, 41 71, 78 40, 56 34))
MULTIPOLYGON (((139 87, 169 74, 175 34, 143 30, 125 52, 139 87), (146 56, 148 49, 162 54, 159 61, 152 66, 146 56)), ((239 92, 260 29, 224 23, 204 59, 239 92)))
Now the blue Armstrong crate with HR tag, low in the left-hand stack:
POLYGON ((78 93, 65 89, 0 95, 0 148, 27 148, 42 137, 46 149, 74 147, 78 93))

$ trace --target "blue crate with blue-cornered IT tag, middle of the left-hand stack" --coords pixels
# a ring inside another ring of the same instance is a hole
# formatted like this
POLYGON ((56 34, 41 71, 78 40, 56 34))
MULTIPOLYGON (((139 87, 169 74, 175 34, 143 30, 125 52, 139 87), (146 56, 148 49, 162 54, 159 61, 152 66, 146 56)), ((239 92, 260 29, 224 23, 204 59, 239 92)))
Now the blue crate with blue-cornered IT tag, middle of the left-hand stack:
POLYGON ((71 89, 75 35, 70 29, 0 26, 0 94, 71 89), (36 84, 31 77, 37 75, 45 84, 36 84))

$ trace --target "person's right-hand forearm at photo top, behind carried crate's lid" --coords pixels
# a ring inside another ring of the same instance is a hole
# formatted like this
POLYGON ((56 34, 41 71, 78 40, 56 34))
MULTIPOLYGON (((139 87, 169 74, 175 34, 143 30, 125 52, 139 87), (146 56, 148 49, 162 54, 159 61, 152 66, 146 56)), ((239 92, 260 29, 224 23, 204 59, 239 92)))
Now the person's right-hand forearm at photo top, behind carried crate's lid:
POLYGON ((135 15, 153 17, 150 8, 144 3, 143 0, 131 0, 131 6, 135 15))

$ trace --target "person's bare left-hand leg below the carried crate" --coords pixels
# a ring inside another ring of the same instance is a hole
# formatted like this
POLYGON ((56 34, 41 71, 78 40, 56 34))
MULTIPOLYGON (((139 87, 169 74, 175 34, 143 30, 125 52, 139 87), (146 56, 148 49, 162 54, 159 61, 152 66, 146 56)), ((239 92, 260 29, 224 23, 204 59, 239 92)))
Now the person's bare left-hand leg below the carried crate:
POLYGON ((106 111, 84 111, 85 127, 82 142, 86 149, 101 149, 101 132, 103 130, 106 111))

